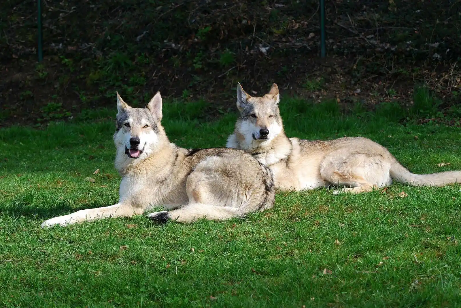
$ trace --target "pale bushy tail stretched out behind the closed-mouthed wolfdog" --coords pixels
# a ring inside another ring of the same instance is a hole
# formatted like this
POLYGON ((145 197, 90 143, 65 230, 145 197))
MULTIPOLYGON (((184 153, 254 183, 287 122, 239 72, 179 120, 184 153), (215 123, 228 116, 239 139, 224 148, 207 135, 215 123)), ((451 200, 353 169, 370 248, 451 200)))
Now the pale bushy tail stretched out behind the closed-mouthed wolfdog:
POLYGON ((445 186, 461 183, 461 171, 413 174, 397 161, 390 167, 390 176, 393 180, 410 186, 445 186))

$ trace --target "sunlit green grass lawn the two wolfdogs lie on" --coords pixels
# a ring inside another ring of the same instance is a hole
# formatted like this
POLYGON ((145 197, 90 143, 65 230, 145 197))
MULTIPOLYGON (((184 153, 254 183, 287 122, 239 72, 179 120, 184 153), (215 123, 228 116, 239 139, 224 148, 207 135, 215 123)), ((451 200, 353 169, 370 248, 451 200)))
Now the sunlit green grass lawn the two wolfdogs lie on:
MULTIPOLYGON (((289 136, 364 136, 414 173, 461 169, 460 128, 401 124, 394 105, 280 105, 289 136)), ((170 140, 224 146, 236 113, 196 119, 207 111, 165 103, 170 140)), ((283 193, 273 209, 223 222, 155 225, 140 215, 41 229, 48 218, 117 203, 115 113, 114 102, 74 122, 0 130, 1 307, 461 305, 460 185, 283 193)))

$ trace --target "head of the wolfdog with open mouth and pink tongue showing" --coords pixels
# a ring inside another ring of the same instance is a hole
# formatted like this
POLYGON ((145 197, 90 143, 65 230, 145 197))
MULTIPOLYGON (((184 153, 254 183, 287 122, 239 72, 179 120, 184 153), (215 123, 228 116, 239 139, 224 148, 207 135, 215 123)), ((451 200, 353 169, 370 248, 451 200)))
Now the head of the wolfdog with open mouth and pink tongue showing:
POLYGON ((113 135, 118 152, 130 159, 148 157, 165 138, 160 124, 162 97, 157 92, 146 108, 132 108, 117 92, 117 130, 113 135))

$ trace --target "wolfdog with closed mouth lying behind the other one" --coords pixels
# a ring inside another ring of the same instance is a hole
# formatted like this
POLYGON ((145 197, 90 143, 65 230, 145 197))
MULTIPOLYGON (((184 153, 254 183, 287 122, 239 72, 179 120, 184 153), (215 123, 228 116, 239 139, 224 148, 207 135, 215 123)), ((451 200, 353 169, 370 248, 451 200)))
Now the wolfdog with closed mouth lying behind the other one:
POLYGON ((392 180, 412 186, 444 186, 461 182, 461 171, 413 174, 382 145, 362 137, 329 141, 288 138, 272 84, 263 97, 248 95, 237 85, 240 115, 226 147, 252 153, 272 169, 278 191, 310 190, 323 186, 345 187, 340 192, 370 192, 392 180))

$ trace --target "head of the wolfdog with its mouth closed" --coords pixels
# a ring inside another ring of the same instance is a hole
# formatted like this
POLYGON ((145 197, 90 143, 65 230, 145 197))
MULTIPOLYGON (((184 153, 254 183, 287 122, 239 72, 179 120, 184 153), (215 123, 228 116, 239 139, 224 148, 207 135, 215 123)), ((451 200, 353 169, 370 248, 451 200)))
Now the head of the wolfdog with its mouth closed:
POLYGON ((283 129, 278 102, 278 87, 272 84, 263 97, 252 97, 237 84, 237 108, 240 116, 236 128, 246 143, 270 143, 283 129))

